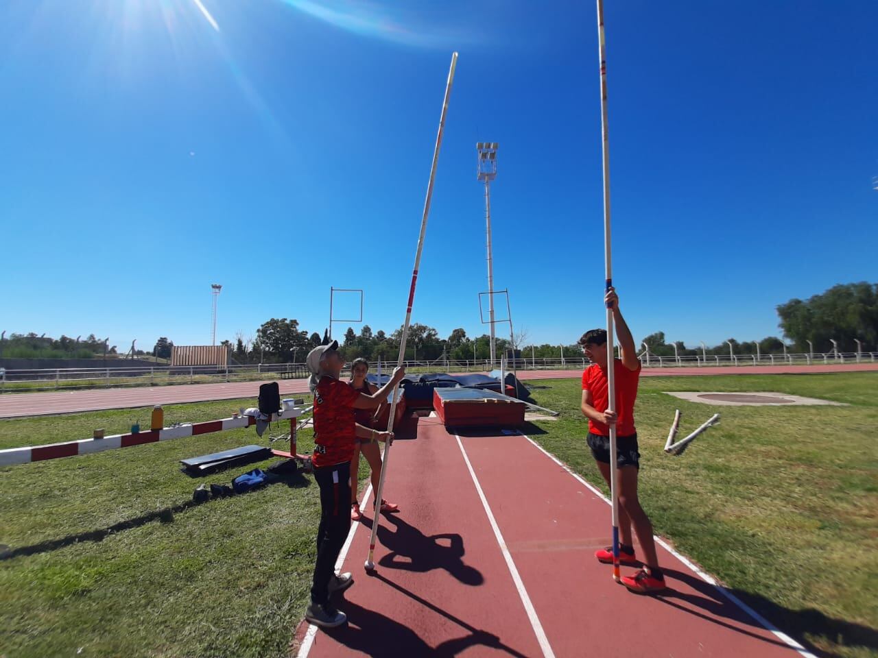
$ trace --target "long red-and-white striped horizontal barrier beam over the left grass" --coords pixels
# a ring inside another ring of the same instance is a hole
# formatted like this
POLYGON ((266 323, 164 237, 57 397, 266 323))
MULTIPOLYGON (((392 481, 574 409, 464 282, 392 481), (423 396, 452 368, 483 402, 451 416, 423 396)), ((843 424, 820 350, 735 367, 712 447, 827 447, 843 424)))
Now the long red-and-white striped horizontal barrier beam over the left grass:
MULTIPOLYGON (((292 426, 295 427, 295 419, 299 418, 304 411, 304 409, 284 409, 284 411, 272 414, 271 420, 289 418, 292 426)), ((15 466, 16 464, 26 464, 31 461, 73 457, 77 454, 99 453, 104 450, 114 450, 118 447, 140 446, 144 443, 183 439, 187 436, 234 430, 255 424, 256 419, 252 416, 239 416, 238 418, 208 420, 204 423, 187 423, 174 427, 164 427, 161 430, 150 430, 149 432, 113 434, 103 439, 83 439, 68 441, 67 443, 50 443, 47 446, 11 447, 6 450, 0 450, 0 466, 15 466)), ((294 452, 295 447, 293 447, 294 452)))

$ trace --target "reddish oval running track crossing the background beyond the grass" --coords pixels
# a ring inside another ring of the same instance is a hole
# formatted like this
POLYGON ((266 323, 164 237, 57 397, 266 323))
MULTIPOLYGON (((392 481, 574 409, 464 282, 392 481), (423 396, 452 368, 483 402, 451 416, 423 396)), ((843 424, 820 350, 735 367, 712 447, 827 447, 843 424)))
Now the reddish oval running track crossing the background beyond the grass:
MULTIPOLYGON (((719 368, 644 368, 643 376, 679 375, 781 375, 854 372, 878 370, 878 363, 846 363, 826 366, 738 366, 719 368)), ((571 379, 579 377, 579 370, 522 370, 522 381, 531 379, 571 379)), ((74 390, 51 393, 10 393, 0 396, 0 418, 45 416, 76 411, 101 411, 151 406, 153 404, 182 404, 208 400, 231 400, 253 397, 254 404, 259 385, 264 382, 182 384, 154 388, 74 390)), ((301 395, 308 392, 304 379, 281 380, 281 395, 301 395)))

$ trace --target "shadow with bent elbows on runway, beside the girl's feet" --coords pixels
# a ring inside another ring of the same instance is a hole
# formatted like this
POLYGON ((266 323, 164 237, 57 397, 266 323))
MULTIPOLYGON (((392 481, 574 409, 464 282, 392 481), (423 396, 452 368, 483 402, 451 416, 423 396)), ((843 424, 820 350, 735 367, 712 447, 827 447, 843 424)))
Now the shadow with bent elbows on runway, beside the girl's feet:
MULTIPOLYGON (((464 539, 457 533, 441 533, 430 536, 397 516, 385 515, 386 525, 378 527, 378 539, 390 553, 378 564, 388 569, 401 569, 424 573, 433 569, 445 569, 465 585, 478 586, 485 582, 479 569, 464 563, 464 539)), ((363 519, 371 528, 371 521, 363 519)))

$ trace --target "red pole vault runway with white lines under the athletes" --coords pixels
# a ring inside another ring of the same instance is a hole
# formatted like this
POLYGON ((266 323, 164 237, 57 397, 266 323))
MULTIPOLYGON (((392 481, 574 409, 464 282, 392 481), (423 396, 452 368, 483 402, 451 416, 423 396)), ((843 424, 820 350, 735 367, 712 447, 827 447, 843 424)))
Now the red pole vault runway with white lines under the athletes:
POLYGON ((799 654, 665 547, 671 590, 614 583, 593 555, 608 543, 606 500, 525 436, 458 442, 421 418, 389 468, 385 497, 402 511, 381 521, 375 575, 366 519, 342 564, 356 580, 336 601, 349 623, 303 623, 299 658, 799 654))

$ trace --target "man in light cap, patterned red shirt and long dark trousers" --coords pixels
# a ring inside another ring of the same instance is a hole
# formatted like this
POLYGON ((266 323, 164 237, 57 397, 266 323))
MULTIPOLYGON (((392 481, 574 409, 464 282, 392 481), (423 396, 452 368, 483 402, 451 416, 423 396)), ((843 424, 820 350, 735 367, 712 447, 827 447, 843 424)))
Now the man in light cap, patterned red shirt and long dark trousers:
MULTIPOLYGON (((344 359, 338 341, 314 347, 307 358, 309 386, 314 395, 314 480, 320 486, 320 527, 317 529, 317 561, 311 587, 311 605, 305 619, 315 626, 331 628, 346 620, 329 602, 336 591, 354 584, 349 573, 335 575, 335 561, 350 530, 350 460, 356 437, 392 440, 392 433, 356 424, 355 409, 378 409, 393 387, 406 374, 396 368, 388 383, 374 395, 353 390, 339 381, 344 359)), ((356 474, 354 475, 356 477, 356 474)))

